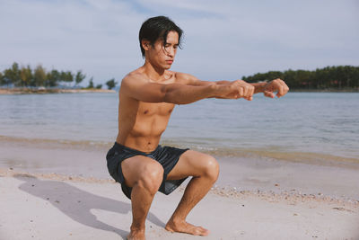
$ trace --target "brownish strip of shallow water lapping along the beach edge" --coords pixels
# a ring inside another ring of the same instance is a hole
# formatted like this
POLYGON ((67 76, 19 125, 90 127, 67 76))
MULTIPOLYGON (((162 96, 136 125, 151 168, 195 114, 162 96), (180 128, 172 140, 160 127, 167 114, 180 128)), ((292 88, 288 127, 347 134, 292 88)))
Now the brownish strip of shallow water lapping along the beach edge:
MULTIPOLYGON (((26 148, 53 148, 58 150, 83 150, 107 152, 113 145, 113 141, 92 141, 92 140, 65 140, 48 138, 20 138, 0 135, 0 144, 3 146, 21 146, 26 148)), ((163 140, 162 146, 185 148, 172 141, 163 140)), ((1 148, 1 147, 0 147, 1 148)), ((339 167, 346 169, 359 170, 359 158, 351 156, 331 155, 317 152, 298 152, 298 151, 265 151, 260 148, 241 148, 233 151, 229 148, 206 149, 191 147, 192 150, 199 151, 218 159, 257 159, 266 161, 276 161, 278 163, 289 164, 308 164, 317 166, 339 167)))

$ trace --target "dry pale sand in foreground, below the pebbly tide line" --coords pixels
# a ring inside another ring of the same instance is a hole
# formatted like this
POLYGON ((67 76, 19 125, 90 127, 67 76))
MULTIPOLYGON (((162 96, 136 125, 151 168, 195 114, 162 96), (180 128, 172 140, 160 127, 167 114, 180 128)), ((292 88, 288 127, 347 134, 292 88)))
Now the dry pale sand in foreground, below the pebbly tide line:
MULTIPOLYGON (((117 183, 13 171, 1 176, 0 239, 126 239, 131 207, 117 183)), ((156 194, 148 239, 359 239, 357 202, 221 190, 188 216, 210 236, 171 234, 163 227, 181 194, 156 194)))

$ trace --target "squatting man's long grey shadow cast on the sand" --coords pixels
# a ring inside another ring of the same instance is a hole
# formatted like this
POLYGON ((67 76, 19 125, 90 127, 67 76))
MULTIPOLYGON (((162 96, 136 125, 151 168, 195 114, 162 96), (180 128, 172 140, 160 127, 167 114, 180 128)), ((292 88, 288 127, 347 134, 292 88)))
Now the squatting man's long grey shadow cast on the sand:
MULTIPOLYGON (((131 211, 131 204, 129 203, 104 198, 78 189, 66 182, 40 180, 30 174, 15 174, 13 177, 23 182, 19 186, 20 190, 26 191, 42 200, 47 200, 52 206, 66 214, 67 217, 72 218, 80 224, 115 232, 124 239, 129 234, 128 231, 99 221, 91 212, 91 209, 102 209, 127 214, 131 211)), ((159 227, 165 226, 162 220, 151 212, 148 213, 147 219, 159 227)))

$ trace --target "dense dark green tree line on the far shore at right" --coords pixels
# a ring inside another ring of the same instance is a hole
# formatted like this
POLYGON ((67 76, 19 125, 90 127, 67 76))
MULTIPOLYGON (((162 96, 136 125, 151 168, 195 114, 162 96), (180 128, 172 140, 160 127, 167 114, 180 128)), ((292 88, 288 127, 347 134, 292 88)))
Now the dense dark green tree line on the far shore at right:
POLYGON ((359 67, 337 66, 317 68, 314 71, 286 70, 258 73, 253 76, 243 76, 242 80, 249 83, 269 81, 276 78, 285 80, 293 90, 325 90, 325 89, 355 89, 359 90, 359 67))

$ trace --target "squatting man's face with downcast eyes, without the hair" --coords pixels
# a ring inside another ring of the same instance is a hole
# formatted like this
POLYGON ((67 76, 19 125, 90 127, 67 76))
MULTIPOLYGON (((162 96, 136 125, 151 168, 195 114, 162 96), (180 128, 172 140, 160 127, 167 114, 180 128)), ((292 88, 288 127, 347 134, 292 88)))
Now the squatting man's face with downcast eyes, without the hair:
POLYGON ((156 40, 153 46, 150 46, 146 55, 155 67, 169 69, 176 56, 179 47, 179 33, 170 31, 167 35, 167 43, 163 45, 163 40, 156 40))

